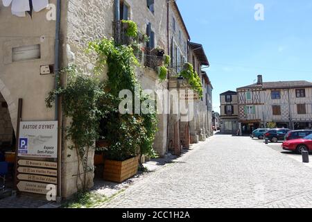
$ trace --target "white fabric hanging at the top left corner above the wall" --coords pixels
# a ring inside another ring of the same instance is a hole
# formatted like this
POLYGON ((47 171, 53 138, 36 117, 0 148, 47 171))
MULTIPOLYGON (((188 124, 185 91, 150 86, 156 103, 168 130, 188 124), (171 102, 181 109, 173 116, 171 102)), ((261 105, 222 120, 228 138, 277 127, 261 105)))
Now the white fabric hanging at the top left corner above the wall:
POLYGON ((49 0, 2 0, 3 6, 10 6, 12 3, 12 15, 25 17, 26 12, 33 15, 33 10, 39 12, 49 6, 49 0))

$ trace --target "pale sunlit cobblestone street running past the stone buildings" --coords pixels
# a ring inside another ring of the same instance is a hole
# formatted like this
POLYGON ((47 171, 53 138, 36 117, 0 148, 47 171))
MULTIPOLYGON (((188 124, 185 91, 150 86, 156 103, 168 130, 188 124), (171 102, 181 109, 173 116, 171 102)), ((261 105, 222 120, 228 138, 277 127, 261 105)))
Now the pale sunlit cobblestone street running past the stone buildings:
POLYGON ((250 137, 215 135, 102 207, 312 207, 312 168, 250 137))

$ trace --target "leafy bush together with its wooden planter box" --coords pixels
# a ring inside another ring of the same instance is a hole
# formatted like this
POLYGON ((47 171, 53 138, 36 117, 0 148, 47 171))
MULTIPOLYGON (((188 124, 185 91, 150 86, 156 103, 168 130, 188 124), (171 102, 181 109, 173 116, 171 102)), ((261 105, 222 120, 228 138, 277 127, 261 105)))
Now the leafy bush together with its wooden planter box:
POLYGON ((104 180, 123 182, 139 168, 140 119, 130 114, 110 114, 105 128, 110 145, 104 151, 104 180))

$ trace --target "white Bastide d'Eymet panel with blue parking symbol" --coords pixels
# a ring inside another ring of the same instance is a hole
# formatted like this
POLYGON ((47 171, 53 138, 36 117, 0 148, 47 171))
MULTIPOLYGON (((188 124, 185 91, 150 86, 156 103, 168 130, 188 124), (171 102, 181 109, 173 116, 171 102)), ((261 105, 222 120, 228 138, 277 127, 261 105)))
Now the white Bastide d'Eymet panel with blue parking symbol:
POLYGON ((19 157, 58 157, 58 121, 22 121, 19 157))

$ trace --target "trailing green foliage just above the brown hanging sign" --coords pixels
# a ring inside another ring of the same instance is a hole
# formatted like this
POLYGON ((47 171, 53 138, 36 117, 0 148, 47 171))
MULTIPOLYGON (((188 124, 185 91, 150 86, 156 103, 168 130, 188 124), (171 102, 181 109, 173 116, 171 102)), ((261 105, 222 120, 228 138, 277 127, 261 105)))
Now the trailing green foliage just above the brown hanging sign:
POLYGON ((191 88, 198 92, 199 96, 202 97, 202 83, 197 72, 193 70, 193 65, 186 63, 183 71, 181 71, 179 75, 187 79, 191 88))

